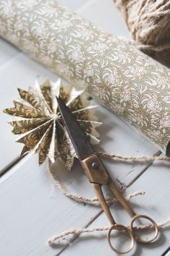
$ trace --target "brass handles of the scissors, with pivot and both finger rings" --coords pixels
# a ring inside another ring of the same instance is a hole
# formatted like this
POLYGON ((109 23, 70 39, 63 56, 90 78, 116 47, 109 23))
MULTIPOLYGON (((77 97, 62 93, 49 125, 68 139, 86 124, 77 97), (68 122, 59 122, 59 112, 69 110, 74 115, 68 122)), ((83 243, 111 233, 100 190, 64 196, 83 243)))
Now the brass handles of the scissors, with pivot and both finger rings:
POLYGON ((111 179, 109 176, 106 168, 104 168, 104 165, 99 158, 99 156, 94 153, 93 155, 90 155, 88 158, 84 159, 82 161, 82 166, 84 166, 84 170, 86 172, 86 175, 89 178, 89 181, 91 182, 92 187, 94 188, 94 191, 97 195, 97 198, 102 206, 102 209, 104 210, 104 213, 106 214, 107 218, 109 219, 109 222, 111 223, 111 227, 109 229, 107 239, 109 242, 109 246, 117 253, 119 254, 125 254, 130 252, 131 249, 133 249, 135 240, 137 242, 141 243, 150 243, 153 242, 153 240, 156 239, 158 236, 158 226, 155 221, 153 221, 152 218, 146 216, 146 215, 137 215, 134 210, 130 207, 128 202, 125 200, 125 198, 122 196, 122 193, 117 189, 117 186, 115 182, 111 179), (95 163, 95 166, 94 166, 95 163), (94 166, 94 167, 93 167, 94 166), (103 192, 102 192, 102 185, 107 185, 109 189, 112 191, 113 195, 117 197, 117 200, 121 203, 122 207, 127 210, 129 215, 131 216, 131 222, 130 226, 123 226, 120 224, 117 224, 115 219, 112 216, 112 213, 109 210, 109 206, 107 205, 107 202, 104 198, 103 192), (135 234, 135 227, 133 226, 134 222, 138 220, 139 218, 146 218, 148 221, 151 221, 152 226, 155 229, 154 235, 151 237, 151 239, 140 239, 137 234, 135 234), (118 230, 118 231, 126 231, 128 235, 130 236, 130 247, 125 251, 121 252, 120 250, 116 249, 114 246, 112 246, 112 243, 110 241, 110 235, 112 230, 118 230))

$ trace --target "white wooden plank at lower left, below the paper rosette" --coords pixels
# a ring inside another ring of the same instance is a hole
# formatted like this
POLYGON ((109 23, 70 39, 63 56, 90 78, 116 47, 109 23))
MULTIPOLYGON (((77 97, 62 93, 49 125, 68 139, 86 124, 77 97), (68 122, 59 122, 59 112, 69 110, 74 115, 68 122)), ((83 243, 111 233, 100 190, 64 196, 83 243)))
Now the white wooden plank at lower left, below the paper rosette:
MULTIPOLYGON (((61 248, 48 247, 48 237, 75 223, 85 224, 99 211, 73 202, 53 188, 46 165, 39 168, 36 156, 12 171, 14 174, 8 179, 4 176, 0 180, 0 255, 55 255, 61 248)), ((82 186, 86 195, 91 194, 89 182, 84 184, 81 175, 77 179, 77 172, 65 171, 63 176, 79 190, 82 186)))

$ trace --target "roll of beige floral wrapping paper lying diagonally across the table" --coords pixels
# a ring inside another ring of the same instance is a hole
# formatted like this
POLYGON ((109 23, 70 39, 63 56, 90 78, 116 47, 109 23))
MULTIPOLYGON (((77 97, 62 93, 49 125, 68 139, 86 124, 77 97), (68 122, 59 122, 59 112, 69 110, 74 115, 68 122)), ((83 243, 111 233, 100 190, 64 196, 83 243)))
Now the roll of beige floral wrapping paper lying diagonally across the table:
POLYGON ((1 0, 0 34, 166 150, 170 69, 55 1, 1 0))

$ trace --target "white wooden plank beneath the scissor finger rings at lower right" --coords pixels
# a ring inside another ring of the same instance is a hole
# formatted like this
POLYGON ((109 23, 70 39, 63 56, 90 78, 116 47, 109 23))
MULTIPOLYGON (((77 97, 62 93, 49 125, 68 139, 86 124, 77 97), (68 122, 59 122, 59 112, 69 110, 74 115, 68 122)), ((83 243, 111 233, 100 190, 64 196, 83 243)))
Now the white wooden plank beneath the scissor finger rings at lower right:
MULTIPOLYGON (((146 195, 134 197, 131 205, 137 213, 146 214, 155 219, 156 222, 165 221, 169 218, 170 213, 170 187, 169 187, 169 163, 156 163, 146 171, 145 174, 130 186, 126 194, 138 190, 144 190, 146 195)), ((114 216, 118 223, 128 224, 130 218, 120 205, 115 205, 114 216)), ((77 225, 76 225, 77 226, 77 225)), ((104 214, 99 216, 89 227, 108 226, 108 221, 104 214)), ((79 227, 82 228, 83 226, 79 227)), ((158 241, 153 244, 138 244, 135 252, 128 255, 138 256, 160 256, 169 247, 170 232, 169 228, 161 229, 158 241)), ((118 241, 115 239, 115 244, 118 241)), ((116 255, 109 249, 106 239, 106 232, 97 232, 96 234, 81 234, 79 239, 76 239, 69 247, 62 253, 62 256, 69 255, 116 255)), ((169 252, 168 254, 169 255, 169 252)))

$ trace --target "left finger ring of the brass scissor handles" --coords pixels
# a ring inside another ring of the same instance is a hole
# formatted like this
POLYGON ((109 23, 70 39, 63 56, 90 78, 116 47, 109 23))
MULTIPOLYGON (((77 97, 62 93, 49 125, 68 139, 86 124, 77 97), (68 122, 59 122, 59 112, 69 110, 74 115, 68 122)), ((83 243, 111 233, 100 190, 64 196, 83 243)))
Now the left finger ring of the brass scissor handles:
POLYGON ((134 239, 134 236, 133 236, 133 233, 132 231, 127 227, 127 226, 123 226, 123 225, 120 225, 120 224, 114 224, 112 225, 110 228, 109 228, 109 231, 107 233, 107 240, 109 242, 109 247, 111 247, 111 249, 114 251, 114 252, 117 252, 119 253, 120 255, 124 255, 125 253, 128 253, 131 251, 131 249, 133 249, 133 246, 134 246, 134 242, 135 242, 135 239, 134 239), (110 241, 110 235, 111 235, 111 232, 112 230, 115 229, 115 230, 118 230, 118 231, 126 231, 129 236, 130 236, 130 247, 128 248, 127 251, 125 252, 122 252, 120 251, 119 249, 116 249, 115 247, 112 246, 112 243, 110 241))

